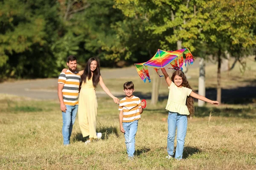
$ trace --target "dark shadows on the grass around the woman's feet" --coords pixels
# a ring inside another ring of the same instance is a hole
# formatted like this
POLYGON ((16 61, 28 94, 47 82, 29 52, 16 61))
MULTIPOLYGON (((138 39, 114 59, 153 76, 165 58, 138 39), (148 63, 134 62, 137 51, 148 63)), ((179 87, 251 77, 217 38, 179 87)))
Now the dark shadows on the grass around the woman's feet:
MULTIPOLYGON (((116 137, 119 137, 118 133, 117 133, 117 128, 110 126, 110 127, 103 127, 102 125, 100 125, 99 128, 96 129, 96 132, 101 132, 102 133, 102 138, 103 140, 108 139, 108 136, 113 133, 116 137)), ((75 133, 75 137, 73 139, 73 142, 75 141, 81 141, 81 142, 85 142, 89 139, 89 136, 83 137, 82 133, 75 133)))

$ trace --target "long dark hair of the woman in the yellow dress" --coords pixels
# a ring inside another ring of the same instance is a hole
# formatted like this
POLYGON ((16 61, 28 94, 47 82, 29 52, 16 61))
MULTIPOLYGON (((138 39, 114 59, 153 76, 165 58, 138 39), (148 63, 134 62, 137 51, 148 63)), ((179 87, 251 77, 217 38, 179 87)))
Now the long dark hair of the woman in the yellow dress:
POLYGON ((90 64, 92 61, 97 62, 97 68, 93 71, 93 86, 96 87, 99 83, 99 77, 100 77, 100 71, 99 71, 99 62, 96 58, 91 57, 88 59, 87 64, 84 68, 84 73, 81 75, 81 82, 86 83, 86 79, 91 79, 92 78, 92 73, 90 70, 90 64))

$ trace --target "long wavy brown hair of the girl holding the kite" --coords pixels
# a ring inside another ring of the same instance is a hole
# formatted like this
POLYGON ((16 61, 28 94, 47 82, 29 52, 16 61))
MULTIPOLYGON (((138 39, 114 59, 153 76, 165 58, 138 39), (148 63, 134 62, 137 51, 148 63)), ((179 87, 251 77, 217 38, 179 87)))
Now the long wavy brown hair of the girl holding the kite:
MULTIPOLYGON (((185 87, 185 88, 190 88, 192 90, 192 88, 190 87, 189 85, 189 82, 187 81, 186 79, 186 76, 185 74, 183 73, 183 71, 180 71, 180 70, 176 70, 173 74, 172 74, 172 82, 174 82, 174 77, 178 75, 179 77, 182 78, 182 86, 185 87)), ((194 99, 192 96, 188 96, 186 98, 186 106, 188 107, 189 109, 189 117, 193 116, 194 113, 195 113, 195 110, 194 110, 194 99)))

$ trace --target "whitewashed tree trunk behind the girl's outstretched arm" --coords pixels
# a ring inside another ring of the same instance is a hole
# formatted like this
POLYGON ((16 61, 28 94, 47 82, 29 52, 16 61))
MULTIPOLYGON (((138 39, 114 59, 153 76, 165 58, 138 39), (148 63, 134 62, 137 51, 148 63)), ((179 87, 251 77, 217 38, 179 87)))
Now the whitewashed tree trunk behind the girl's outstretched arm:
MULTIPOLYGON (((205 96, 205 62, 204 58, 199 61, 199 79, 198 79, 198 94, 205 96)), ((205 102, 198 100, 198 106, 204 106, 205 102)))

